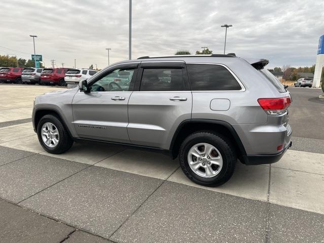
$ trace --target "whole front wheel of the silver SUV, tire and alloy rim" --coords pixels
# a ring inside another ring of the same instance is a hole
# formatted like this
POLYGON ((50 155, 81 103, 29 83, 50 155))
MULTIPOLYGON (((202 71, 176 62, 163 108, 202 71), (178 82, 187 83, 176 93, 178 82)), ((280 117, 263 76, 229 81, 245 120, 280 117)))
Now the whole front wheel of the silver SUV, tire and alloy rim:
POLYGON ((49 153, 63 153, 69 150, 73 144, 61 119, 54 114, 48 114, 41 118, 37 125, 37 136, 39 143, 49 153))

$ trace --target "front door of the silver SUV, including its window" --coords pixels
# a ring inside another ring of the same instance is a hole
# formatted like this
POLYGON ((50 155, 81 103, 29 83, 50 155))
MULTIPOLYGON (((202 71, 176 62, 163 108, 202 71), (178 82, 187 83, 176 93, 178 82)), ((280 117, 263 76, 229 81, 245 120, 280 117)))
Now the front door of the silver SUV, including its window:
POLYGON ((127 106, 136 72, 137 67, 112 68, 90 79, 90 93, 76 93, 72 109, 78 137, 130 143, 127 106))

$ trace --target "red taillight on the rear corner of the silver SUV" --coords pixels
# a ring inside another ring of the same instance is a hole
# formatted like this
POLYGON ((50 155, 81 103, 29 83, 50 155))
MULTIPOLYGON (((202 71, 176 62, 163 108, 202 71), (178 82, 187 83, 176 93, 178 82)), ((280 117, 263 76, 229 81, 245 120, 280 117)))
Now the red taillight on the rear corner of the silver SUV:
POLYGON ((260 98, 258 103, 269 115, 278 115, 286 112, 286 108, 292 103, 290 97, 260 98))

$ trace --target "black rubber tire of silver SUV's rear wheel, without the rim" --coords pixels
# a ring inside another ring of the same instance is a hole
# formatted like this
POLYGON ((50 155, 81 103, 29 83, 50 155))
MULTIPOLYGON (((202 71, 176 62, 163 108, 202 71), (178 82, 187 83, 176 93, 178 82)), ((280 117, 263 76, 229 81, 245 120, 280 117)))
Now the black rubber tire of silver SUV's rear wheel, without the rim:
POLYGON ((233 175, 235 164, 237 161, 236 151, 226 138, 209 131, 199 131, 189 135, 180 146, 179 162, 183 173, 193 182, 203 185, 215 187, 227 182, 233 175), (198 143, 208 143, 219 150, 223 159, 221 171, 214 177, 205 178, 193 172, 188 164, 188 152, 192 146, 198 143))

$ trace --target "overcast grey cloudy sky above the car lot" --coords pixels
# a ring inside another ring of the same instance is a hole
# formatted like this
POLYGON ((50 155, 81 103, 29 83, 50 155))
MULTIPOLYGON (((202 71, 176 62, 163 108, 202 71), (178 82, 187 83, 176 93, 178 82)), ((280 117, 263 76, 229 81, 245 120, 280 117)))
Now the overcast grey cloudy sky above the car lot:
MULTIPOLYGON (((128 59, 128 0, 11 0, 1 5, 0 54, 30 58, 46 66, 103 68, 128 59), (13 49, 8 50, 5 48, 13 49), (19 51, 19 52, 18 52, 19 51)), ((133 0, 132 58, 191 53, 208 47, 240 57, 270 60, 269 67, 315 63, 319 36, 324 34, 324 1, 133 0)))

